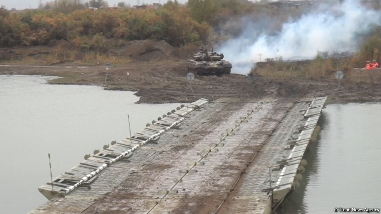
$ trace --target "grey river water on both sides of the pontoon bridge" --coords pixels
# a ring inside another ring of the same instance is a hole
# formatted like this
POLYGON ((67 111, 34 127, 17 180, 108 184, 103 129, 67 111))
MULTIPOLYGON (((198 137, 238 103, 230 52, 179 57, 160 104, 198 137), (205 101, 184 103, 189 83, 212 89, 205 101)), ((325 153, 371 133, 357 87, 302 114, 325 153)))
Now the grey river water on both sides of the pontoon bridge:
MULTIPOLYGON (((134 104, 128 91, 48 85, 54 77, 0 75, 0 205, 26 213, 46 201, 37 188, 83 156, 174 109, 179 104, 134 104)), ((318 141, 306 151, 301 186, 280 214, 326 214, 334 208, 380 208, 381 105, 331 104, 319 121, 318 141)))

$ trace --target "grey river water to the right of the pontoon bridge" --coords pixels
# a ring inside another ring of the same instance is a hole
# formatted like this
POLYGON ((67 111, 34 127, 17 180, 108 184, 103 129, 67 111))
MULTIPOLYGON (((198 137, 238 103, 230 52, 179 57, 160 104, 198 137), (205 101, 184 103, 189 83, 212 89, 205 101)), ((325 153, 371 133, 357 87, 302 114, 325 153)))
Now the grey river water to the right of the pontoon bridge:
POLYGON ((306 151, 301 186, 277 213, 381 208, 380 110, 380 103, 327 105, 319 121, 319 138, 306 151))

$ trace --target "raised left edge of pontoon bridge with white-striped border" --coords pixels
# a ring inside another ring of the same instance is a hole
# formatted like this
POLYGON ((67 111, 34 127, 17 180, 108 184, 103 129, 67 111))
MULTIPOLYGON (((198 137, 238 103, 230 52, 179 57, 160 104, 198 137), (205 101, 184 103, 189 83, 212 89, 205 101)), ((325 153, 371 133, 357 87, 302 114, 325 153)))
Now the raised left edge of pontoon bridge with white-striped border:
POLYGON ((85 155, 85 160, 77 166, 64 172, 60 176, 54 178, 52 182, 47 182, 38 188, 48 200, 55 196, 65 196, 75 188, 88 185, 93 182, 100 172, 107 168, 110 164, 123 158, 128 158, 134 150, 138 149, 147 142, 154 141, 165 131, 178 125, 185 119, 185 116, 197 108, 202 107, 208 102, 206 99, 200 99, 191 104, 181 105, 177 110, 168 112, 158 121, 152 121, 152 125, 135 133, 130 138, 125 138, 120 142, 112 142, 111 146, 104 145, 103 150, 94 150, 94 155, 85 155))

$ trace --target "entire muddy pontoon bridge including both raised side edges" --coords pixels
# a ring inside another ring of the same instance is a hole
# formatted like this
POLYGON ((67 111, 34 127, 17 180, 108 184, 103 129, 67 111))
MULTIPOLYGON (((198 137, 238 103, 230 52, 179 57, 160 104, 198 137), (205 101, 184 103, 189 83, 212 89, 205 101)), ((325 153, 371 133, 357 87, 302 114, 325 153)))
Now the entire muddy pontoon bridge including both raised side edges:
POLYGON ((299 187, 327 97, 200 99, 42 185, 30 213, 271 213, 299 187))

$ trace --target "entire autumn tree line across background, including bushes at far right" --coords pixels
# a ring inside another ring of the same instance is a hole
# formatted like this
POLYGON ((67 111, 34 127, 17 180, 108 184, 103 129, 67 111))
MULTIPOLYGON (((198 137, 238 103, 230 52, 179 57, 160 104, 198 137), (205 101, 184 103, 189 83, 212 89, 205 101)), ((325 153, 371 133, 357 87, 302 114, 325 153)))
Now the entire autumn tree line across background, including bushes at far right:
MULTIPOLYGON (((277 32, 290 18, 298 19, 303 8, 278 8, 266 1, 188 0, 185 5, 168 1, 157 10, 125 7, 107 8, 104 0, 54 0, 39 9, 12 11, 0 7, 0 47, 49 45, 66 40, 82 51, 103 51, 107 41, 165 40, 172 46, 206 44, 218 37, 239 35, 241 18, 266 25, 258 29, 277 32), (88 7, 99 8, 93 10, 88 7), (271 18, 271 19, 269 19, 271 18), (269 19, 269 20, 267 20, 269 19)), ((377 6, 377 5, 376 5, 377 6)), ((379 4, 378 4, 379 8, 379 4)), ((311 7, 310 7, 311 9, 311 7)), ((306 10, 309 10, 308 8, 306 10)), ((369 34, 359 50, 358 61, 378 58, 381 30, 369 34)))

